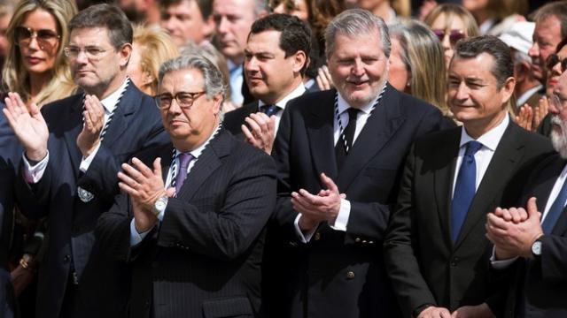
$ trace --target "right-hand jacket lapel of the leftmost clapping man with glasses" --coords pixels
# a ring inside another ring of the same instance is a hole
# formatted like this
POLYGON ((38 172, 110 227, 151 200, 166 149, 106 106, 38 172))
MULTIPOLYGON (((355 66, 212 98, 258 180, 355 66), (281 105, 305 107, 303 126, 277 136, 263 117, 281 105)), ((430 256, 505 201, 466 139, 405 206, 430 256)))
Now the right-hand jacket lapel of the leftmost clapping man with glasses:
POLYGON ((126 92, 120 98, 120 102, 114 110, 113 120, 108 125, 108 130, 105 134, 105 145, 113 145, 113 143, 120 138, 122 133, 128 129, 128 116, 136 112, 136 106, 141 103, 142 94, 137 90, 132 82, 128 84, 126 92))

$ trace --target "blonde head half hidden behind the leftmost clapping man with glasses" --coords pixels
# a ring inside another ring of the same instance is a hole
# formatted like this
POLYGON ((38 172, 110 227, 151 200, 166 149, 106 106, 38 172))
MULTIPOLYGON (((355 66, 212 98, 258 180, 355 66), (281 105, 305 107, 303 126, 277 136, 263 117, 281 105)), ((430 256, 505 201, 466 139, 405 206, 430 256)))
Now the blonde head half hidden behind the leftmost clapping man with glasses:
POLYGON ((178 56, 179 49, 164 29, 136 26, 128 76, 142 92, 156 95, 159 66, 178 56))

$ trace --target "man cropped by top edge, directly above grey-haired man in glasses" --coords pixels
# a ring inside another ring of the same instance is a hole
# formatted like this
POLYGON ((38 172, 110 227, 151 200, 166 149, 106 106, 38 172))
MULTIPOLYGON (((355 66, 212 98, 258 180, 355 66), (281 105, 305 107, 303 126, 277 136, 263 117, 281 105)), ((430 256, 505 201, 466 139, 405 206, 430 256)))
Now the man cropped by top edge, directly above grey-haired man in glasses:
POLYGON ((161 27, 177 46, 207 41, 214 32, 212 0, 162 0, 161 27))

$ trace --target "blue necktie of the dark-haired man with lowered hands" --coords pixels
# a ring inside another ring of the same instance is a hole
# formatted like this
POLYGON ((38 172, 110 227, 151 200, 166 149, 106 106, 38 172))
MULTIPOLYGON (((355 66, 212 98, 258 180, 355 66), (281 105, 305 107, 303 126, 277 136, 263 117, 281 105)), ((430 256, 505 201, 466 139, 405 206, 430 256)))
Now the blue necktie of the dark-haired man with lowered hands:
POLYGON ((454 183, 453 203, 451 205, 451 239, 456 242, 462 223, 469 212, 470 203, 477 192, 477 162, 475 154, 482 144, 469 141, 462 156, 461 168, 454 183))

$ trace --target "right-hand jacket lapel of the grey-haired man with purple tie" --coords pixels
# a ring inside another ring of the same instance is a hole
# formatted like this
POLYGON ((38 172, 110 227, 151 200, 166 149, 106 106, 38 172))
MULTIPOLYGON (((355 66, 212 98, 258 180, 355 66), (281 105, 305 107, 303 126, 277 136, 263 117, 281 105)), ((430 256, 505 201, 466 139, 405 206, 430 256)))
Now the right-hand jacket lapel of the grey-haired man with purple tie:
POLYGON ((231 138, 233 137, 229 133, 221 129, 217 136, 211 140, 187 175, 187 179, 177 195, 178 198, 186 201, 191 200, 211 173, 221 166, 221 158, 229 155, 231 138))

